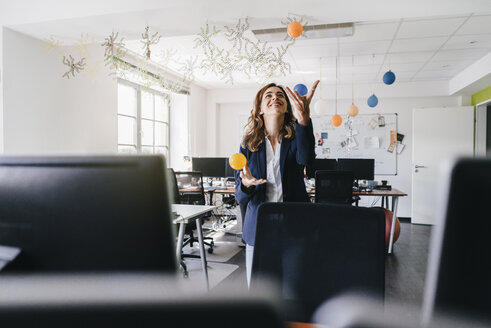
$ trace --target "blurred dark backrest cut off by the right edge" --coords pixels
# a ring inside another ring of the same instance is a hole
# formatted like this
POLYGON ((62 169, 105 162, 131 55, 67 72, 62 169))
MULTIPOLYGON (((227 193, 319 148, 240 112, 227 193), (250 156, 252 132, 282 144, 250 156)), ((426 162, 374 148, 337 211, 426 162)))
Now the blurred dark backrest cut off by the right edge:
POLYGON ((423 315, 491 320, 491 159, 462 158, 450 167, 431 236, 423 315))

